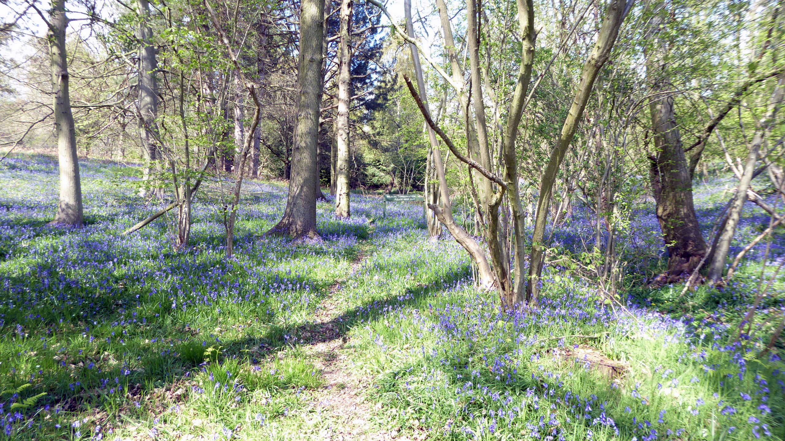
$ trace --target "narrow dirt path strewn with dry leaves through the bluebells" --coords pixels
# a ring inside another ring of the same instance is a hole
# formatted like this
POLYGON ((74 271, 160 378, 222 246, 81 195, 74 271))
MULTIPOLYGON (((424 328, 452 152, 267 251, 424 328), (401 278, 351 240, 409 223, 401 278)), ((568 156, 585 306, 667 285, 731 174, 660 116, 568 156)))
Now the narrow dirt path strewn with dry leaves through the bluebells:
MULTIPOLYGON (((352 264, 350 274, 365 261, 360 257, 352 264)), ((341 282, 346 282, 345 280, 341 282)), ((341 290, 341 282, 330 287, 315 317, 310 344, 305 346, 314 365, 322 372, 325 385, 316 393, 309 413, 314 415, 309 425, 318 425, 316 439, 330 441, 382 441, 400 439, 396 432, 379 428, 371 420, 374 408, 365 400, 365 391, 371 386, 369 378, 355 374, 347 347, 349 337, 341 333, 337 319, 343 312, 334 296, 341 290)), ((378 410, 380 407, 377 406, 378 410)), ((316 427, 315 427, 316 428, 316 427)), ((315 431, 316 432, 316 431, 315 431)), ((304 434, 305 436, 305 434, 304 434)), ((310 436, 307 436, 310 439, 310 436)))

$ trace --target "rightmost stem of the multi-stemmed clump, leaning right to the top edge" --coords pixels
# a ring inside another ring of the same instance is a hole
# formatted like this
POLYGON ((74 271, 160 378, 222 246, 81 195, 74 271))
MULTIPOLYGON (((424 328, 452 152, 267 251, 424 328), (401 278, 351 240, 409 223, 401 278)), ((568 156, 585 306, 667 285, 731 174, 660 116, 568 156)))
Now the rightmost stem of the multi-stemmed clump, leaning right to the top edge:
POLYGON ((586 103, 589 101, 591 91, 593 89, 594 78, 597 78, 608 56, 611 55, 611 49, 616 42, 616 37, 619 35, 619 28, 622 26, 626 14, 632 7, 633 0, 628 0, 625 4, 624 0, 612 0, 608 4, 605 11, 605 18, 600 28, 600 34, 597 36, 597 43, 594 49, 586 60, 581 73, 581 82, 578 86, 578 92, 575 93, 575 99, 567 118, 564 120, 564 126, 561 128, 561 134, 557 140, 556 146, 551 151, 548 166, 542 176, 542 183, 540 184, 539 200, 537 201, 537 213, 535 218, 535 231, 532 235, 531 254, 529 257, 529 278, 526 282, 526 301, 536 301, 539 294, 539 279, 542 275, 542 261, 544 258, 546 222, 548 220, 548 208, 550 206, 550 197, 553 193, 553 183, 556 182, 557 173, 561 166, 561 161, 564 159, 564 154, 570 146, 572 138, 575 136, 575 130, 578 129, 579 122, 581 121, 583 110, 586 108, 586 103))

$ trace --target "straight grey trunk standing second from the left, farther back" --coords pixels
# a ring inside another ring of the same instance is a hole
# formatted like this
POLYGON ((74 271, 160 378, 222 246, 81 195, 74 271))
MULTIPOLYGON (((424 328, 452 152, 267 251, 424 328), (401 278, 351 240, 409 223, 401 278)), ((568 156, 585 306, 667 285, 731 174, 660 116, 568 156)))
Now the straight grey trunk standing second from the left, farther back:
MULTIPOLYGON (((148 0, 137 0, 141 23, 139 24, 139 136, 144 154, 143 181, 147 186, 152 170, 159 161, 158 146, 158 81, 155 71, 158 70, 158 61, 155 58, 155 47, 152 46, 152 29, 148 25, 150 20, 150 6, 148 0)), ((144 196, 147 188, 141 188, 140 195, 144 196)))

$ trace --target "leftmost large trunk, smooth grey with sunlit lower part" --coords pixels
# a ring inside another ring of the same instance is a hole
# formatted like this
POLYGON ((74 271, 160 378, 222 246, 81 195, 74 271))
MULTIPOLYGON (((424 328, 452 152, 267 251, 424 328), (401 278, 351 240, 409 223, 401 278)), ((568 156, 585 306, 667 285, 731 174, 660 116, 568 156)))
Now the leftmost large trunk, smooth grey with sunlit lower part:
POLYGON ((53 0, 49 13, 49 59, 52 64, 52 97, 57 155, 60 162, 60 204, 52 224, 82 225, 82 183, 76 153, 74 115, 68 93, 68 57, 65 52, 65 0, 53 0))

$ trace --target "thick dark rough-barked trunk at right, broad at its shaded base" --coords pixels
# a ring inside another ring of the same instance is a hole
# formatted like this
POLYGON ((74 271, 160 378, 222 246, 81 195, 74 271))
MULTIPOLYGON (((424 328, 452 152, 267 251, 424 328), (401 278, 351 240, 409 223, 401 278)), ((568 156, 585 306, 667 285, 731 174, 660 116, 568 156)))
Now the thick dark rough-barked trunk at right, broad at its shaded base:
POLYGON ((672 86, 664 74, 667 49, 666 43, 659 40, 663 27, 663 18, 654 16, 650 38, 655 44, 653 49, 644 54, 646 75, 654 81, 649 111, 657 150, 655 156, 650 157, 649 175, 657 220, 668 250, 667 273, 659 279, 674 282, 681 275, 689 275, 695 270, 706 254, 706 242, 692 202, 692 175, 681 144, 674 97, 672 93, 666 93, 672 86))

